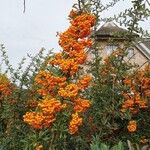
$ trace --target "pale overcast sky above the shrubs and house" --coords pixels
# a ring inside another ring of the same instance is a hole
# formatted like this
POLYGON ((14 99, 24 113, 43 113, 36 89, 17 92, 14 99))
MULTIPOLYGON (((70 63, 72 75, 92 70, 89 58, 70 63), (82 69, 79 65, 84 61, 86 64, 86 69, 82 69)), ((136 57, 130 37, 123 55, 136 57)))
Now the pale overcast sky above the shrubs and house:
MULTIPOLYGON (((103 0, 104 3, 109 0, 103 0)), ((44 47, 58 52, 57 32, 69 26, 67 16, 76 0, 0 0, 0 44, 4 44, 11 64, 15 67, 27 53, 35 55, 44 47)), ((118 3, 103 16, 114 15, 127 7, 130 0, 118 3)), ((148 29, 149 22, 142 26, 148 29)))

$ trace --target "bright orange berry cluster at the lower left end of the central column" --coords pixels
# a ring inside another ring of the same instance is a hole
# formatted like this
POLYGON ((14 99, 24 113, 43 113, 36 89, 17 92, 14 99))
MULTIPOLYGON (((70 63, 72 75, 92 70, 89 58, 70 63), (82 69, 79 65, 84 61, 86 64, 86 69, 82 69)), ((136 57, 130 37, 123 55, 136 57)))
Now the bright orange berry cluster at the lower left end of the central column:
POLYGON ((46 98, 38 104, 39 112, 27 112, 24 116, 24 122, 31 125, 33 128, 42 129, 48 128, 56 120, 55 114, 66 107, 60 101, 52 98, 46 98))

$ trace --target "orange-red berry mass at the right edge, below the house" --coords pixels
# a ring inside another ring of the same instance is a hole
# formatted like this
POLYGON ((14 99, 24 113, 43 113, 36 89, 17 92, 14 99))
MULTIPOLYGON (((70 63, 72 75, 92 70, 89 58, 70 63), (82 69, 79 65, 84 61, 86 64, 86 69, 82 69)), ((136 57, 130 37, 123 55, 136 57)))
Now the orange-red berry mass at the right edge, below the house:
POLYGON ((125 98, 122 105, 123 112, 130 110, 133 114, 136 114, 140 108, 149 107, 150 77, 147 76, 148 72, 150 73, 150 69, 139 71, 134 79, 124 80, 124 83, 129 87, 129 91, 123 93, 125 98))

